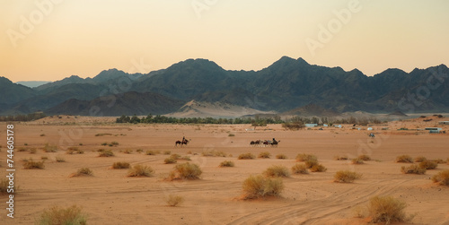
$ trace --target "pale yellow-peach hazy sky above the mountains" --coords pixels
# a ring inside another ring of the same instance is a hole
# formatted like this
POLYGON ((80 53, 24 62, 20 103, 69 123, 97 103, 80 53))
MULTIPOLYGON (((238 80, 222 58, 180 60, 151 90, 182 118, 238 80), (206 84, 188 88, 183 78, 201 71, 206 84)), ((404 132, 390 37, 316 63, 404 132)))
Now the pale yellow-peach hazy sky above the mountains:
POLYGON ((13 82, 149 73, 189 58, 261 70, 449 65, 447 0, 2 0, 0 76, 13 82))

